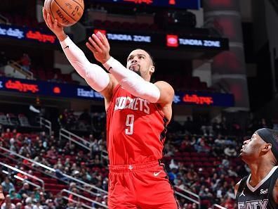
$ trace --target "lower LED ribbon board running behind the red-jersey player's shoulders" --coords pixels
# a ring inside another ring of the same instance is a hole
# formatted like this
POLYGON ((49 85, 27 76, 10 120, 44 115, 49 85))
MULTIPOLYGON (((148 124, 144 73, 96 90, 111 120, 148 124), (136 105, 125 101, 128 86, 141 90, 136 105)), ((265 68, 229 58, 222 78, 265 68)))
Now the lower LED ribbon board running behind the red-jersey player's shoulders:
MULTIPOLYGON (((0 91, 41 96, 60 96, 102 101, 103 96, 90 87, 54 82, 22 80, 0 77, 0 91)), ((232 94, 204 93, 202 91, 176 92, 173 103, 198 106, 234 106, 232 94)))

